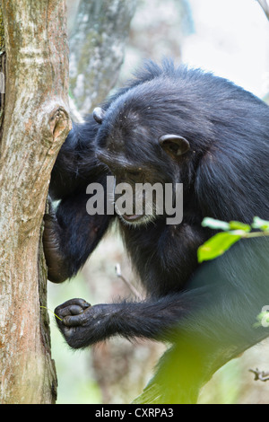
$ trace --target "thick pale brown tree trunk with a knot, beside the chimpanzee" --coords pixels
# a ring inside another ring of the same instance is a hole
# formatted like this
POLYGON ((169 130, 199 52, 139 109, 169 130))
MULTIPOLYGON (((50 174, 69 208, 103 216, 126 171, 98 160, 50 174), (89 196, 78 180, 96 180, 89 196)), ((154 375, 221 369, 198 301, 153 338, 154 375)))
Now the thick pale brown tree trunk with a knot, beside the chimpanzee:
POLYGON ((50 172, 71 127, 65 0, 2 0, 6 51, 0 144, 0 402, 53 403, 47 269, 50 172))

